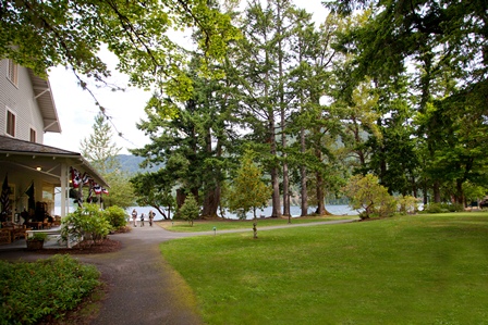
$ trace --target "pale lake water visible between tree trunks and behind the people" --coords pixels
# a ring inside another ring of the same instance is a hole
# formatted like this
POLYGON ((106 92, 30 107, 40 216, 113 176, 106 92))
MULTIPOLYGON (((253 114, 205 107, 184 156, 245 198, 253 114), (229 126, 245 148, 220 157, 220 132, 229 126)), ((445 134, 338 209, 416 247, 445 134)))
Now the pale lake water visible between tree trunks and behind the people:
MULTIPOLYGON (((152 210, 156 213, 155 221, 162 220, 162 215, 152 207, 131 207, 126 210, 127 214, 131 214, 133 209, 135 209, 137 211, 137 220, 139 220, 141 213, 144 213, 144 215, 146 215, 146 220, 147 220, 147 215, 149 215, 150 210, 152 210)), ((308 213, 314 213, 315 209, 316 209, 315 207, 308 208, 308 213)), ((329 211, 330 213, 335 214, 335 215, 344 215, 344 214, 357 215, 358 214, 358 212, 356 210, 351 210, 351 208, 349 205, 326 205, 326 209, 327 209, 327 211, 329 211)), ((259 209, 256 211, 256 216, 257 217, 259 217, 260 215, 270 216, 271 211, 272 211, 271 207, 267 207, 263 210, 259 209)), ((166 212, 166 210, 164 210, 164 212, 166 212)), ((291 212, 292 216, 300 216, 302 209, 297 205, 292 205, 292 207, 290 207, 290 212, 291 212)), ((171 217, 173 216, 173 213, 174 212, 171 211, 171 217)), ((248 220, 253 218, 254 217, 253 212, 247 213, 246 216, 248 220)), ((225 212, 225 217, 227 218, 237 218, 237 216, 235 214, 230 213, 230 212, 225 212)))

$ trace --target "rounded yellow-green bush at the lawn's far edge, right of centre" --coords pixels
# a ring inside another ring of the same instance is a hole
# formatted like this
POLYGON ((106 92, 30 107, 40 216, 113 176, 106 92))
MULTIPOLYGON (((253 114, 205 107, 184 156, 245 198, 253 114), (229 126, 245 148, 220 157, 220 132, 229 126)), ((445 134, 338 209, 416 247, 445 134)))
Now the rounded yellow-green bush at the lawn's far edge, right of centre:
POLYGON ((371 174, 351 177, 343 191, 351 200, 351 208, 363 209, 359 213, 362 218, 368 218, 371 214, 391 216, 396 211, 394 198, 378 183, 378 177, 371 174))

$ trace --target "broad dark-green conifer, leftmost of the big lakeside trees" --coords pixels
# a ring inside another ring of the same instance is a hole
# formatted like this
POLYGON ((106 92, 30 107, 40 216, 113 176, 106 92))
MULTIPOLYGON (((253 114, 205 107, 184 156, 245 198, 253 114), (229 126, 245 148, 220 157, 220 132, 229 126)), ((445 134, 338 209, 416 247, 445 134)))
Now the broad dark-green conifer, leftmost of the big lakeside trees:
POLYGON ((146 164, 161 166, 158 173, 164 184, 180 187, 179 207, 185 192, 192 192, 198 201, 203 197, 202 214, 213 217, 220 204, 222 170, 231 160, 232 139, 236 138, 231 95, 227 92, 231 87, 227 77, 199 76, 195 67, 199 64, 198 53, 194 55, 187 68, 194 83, 192 97, 184 102, 154 97, 146 107, 147 118, 138 124, 152 142, 132 152, 145 157, 146 164), (168 115, 169 111, 174 114, 168 115))

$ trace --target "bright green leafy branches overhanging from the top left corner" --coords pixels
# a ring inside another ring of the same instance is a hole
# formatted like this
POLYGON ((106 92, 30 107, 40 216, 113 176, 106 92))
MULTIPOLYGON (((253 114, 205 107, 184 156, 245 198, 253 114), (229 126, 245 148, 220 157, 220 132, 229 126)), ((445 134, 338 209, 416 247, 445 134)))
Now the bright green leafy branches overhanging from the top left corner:
POLYGON ((12 59, 40 76, 61 64, 103 83, 110 75, 98 57, 105 43, 119 58, 117 68, 130 76, 132 85, 155 86, 187 98, 192 86, 182 71, 185 52, 169 34, 173 28, 199 30, 202 61, 222 60, 228 41, 237 38, 239 32, 213 4, 207 0, 5 0, 0 15, 0 58, 12 59))

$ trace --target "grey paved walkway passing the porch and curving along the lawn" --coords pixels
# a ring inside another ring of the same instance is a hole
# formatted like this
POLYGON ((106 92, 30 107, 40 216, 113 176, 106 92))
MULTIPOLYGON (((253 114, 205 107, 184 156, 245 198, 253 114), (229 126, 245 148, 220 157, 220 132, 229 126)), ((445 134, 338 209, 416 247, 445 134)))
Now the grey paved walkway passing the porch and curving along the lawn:
MULTIPOLYGON (((313 226, 352 222, 332 221, 292 224, 259 228, 259 232, 291 226, 313 226)), ((252 232, 220 230, 222 233, 252 232)), ((198 325, 203 324, 193 292, 181 276, 161 258, 158 243, 174 238, 213 235, 208 233, 171 233, 157 225, 136 227, 131 233, 113 235, 122 249, 103 254, 74 255, 82 262, 95 264, 108 283, 109 290, 100 313, 93 325, 198 325)), ((25 245, 25 243, 24 243, 25 245)), ((21 248, 1 249, 0 259, 34 261, 49 255, 36 254, 21 248)))

